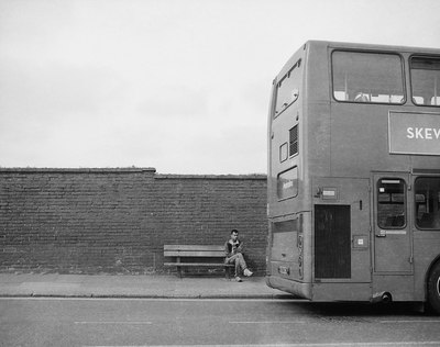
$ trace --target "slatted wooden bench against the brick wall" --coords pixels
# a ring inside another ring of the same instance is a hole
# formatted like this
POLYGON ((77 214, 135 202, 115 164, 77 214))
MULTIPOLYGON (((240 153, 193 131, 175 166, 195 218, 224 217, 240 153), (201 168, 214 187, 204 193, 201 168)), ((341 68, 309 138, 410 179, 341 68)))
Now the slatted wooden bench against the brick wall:
POLYGON ((177 273, 182 277, 184 267, 223 267, 226 277, 229 278, 229 269, 233 264, 224 264, 224 246, 209 245, 164 245, 164 266, 177 267, 177 273), (205 260, 205 261, 204 261, 205 260))

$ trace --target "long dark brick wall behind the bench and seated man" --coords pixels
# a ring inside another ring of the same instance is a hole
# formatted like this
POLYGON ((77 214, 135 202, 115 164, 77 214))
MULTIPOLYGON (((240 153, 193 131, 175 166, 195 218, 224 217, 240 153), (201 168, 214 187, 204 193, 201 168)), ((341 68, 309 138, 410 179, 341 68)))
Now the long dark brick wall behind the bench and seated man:
POLYGON ((0 271, 163 272, 164 244, 223 244, 231 228, 263 275, 265 176, 0 169, 0 271))

